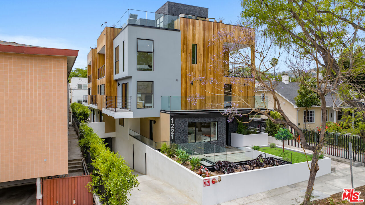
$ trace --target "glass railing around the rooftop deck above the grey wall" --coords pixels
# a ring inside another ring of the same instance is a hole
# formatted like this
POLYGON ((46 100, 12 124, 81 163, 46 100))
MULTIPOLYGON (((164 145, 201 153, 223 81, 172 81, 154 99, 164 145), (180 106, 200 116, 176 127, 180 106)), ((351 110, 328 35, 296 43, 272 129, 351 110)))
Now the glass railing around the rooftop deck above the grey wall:
POLYGON ((128 24, 134 24, 175 29, 175 20, 178 18, 178 16, 127 9, 114 27, 125 28, 128 24))

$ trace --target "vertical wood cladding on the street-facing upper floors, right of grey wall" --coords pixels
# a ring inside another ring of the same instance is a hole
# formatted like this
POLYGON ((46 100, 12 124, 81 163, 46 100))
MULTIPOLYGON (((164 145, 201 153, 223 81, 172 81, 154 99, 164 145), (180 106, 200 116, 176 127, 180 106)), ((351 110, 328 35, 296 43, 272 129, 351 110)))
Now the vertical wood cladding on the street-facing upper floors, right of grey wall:
MULTIPOLYGON (((200 94, 203 96, 215 96, 216 94, 224 94, 224 84, 231 84, 232 77, 224 77, 223 72, 217 72, 212 69, 211 65, 214 62, 214 56, 219 55, 223 51, 223 45, 209 46, 209 40, 213 39, 212 35, 217 35, 220 30, 227 30, 233 32, 235 38, 242 37, 247 40, 247 45, 254 48, 254 29, 247 28, 238 29, 240 27, 227 25, 218 22, 209 22, 197 19, 179 18, 175 22, 177 29, 181 31, 181 96, 193 96, 200 94), (197 45, 197 63, 191 63, 192 44, 197 45), (215 79, 219 84, 201 84, 199 80, 194 80, 194 77, 201 77, 203 79, 215 79), (191 82, 193 85, 191 85, 191 82)), ((232 41, 228 39, 227 40, 232 41)), ((251 49, 251 62, 254 63, 254 49, 251 49)), ((223 70, 223 65, 222 65, 223 70)), ((246 82, 247 86, 243 87, 233 85, 232 92, 237 96, 254 96, 253 89, 254 81, 246 78, 236 78, 241 85, 246 82), (243 89, 243 90, 242 90, 243 89)), ((253 103, 253 97, 249 101, 253 103)), ((207 104, 197 102, 193 105, 188 100, 181 100, 182 109, 211 109, 207 108, 207 104)), ((233 99, 234 101, 234 99, 233 99)), ((223 96, 215 96, 211 98, 213 104, 222 104, 224 102, 223 96)), ((223 105, 223 104, 222 104, 223 105)), ((223 108, 224 106, 222 106, 223 108)), ((240 105, 239 108, 247 108, 248 106, 240 105)))

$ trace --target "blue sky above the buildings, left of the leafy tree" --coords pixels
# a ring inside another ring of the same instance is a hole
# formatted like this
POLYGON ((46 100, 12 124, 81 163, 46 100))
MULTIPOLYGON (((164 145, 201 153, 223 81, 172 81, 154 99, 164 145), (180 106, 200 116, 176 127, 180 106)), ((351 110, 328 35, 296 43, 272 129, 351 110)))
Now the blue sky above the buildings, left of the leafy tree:
MULTIPOLYGON (((172 0, 209 8, 209 17, 237 22, 242 11, 239 0, 172 0)), ((74 67, 85 67, 90 46, 103 30, 128 9, 155 12, 166 0, 132 1, 2 1, 0 40, 34 46, 79 50, 74 67)))

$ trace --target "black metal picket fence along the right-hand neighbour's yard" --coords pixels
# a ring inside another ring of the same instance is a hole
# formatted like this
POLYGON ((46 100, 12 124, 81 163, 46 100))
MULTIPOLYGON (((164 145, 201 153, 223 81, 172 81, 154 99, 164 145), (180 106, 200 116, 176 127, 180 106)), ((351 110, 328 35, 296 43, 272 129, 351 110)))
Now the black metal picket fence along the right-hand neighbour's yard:
MULTIPOLYGON (((288 145, 301 148, 299 140, 303 136, 299 136, 292 127, 286 127, 294 136, 293 140, 288 140, 288 145)), ((309 129, 301 129, 301 131, 308 144, 316 146, 319 143, 320 131, 309 129)), ((324 154, 350 159, 349 142, 351 142, 353 144, 352 151, 354 160, 365 163, 365 143, 360 136, 326 132, 324 134, 324 139, 326 140, 322 150, 324 154)))

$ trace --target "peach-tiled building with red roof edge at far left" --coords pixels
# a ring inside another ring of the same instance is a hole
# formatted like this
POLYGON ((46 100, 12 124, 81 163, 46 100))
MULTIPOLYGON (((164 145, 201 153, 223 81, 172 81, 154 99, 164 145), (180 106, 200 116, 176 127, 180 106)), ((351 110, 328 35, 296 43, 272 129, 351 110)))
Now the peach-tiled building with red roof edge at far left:
POLYGON ((77 54, 0 41, 1 187, 68 174, 67 79, 77 54))

